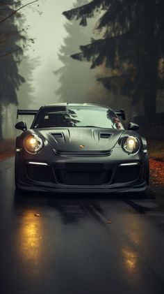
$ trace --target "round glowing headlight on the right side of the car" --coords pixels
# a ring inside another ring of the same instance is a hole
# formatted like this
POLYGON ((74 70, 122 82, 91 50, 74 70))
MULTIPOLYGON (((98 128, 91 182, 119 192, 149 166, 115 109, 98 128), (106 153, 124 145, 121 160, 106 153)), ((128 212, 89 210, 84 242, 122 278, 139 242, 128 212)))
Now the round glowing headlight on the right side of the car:
POLYGON ((140 142, 137 138, 129 135, 128 137, 124 138, 122 141, 122 148, 127 153, 136 153, 140 148, 140 142))

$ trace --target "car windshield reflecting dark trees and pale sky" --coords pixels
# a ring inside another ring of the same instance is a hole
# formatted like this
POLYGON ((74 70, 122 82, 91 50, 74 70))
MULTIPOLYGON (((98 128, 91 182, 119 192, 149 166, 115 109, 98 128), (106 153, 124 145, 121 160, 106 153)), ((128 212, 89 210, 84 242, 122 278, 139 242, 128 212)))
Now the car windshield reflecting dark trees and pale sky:
POLYGON ((123 128, 113 110, 90 106, 56 106, 43 108, 34 120, 33 128, 96 127, 123 128))

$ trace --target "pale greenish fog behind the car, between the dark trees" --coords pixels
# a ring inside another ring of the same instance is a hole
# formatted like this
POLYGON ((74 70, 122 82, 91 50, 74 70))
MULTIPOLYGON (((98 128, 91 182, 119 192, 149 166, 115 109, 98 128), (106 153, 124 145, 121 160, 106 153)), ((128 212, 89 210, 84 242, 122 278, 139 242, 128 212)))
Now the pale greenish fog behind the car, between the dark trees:
MULTIPOLYGON (((102 31, 97 35, 94 28, 104 10, 95 14, 94 19, 89 19, 86 27, 79 26, 80 21, 68 21, 63 15, 63 11, 87 2, 88 0, 39 0, 22 8, 19 29, 24 29, 27 41, 22 45, 19 74, 26 82, 17 89, 18 105, 3 104, 4 137, 15 136, 13 122, 16 122, 17 108, 38 109, 42 105, 58 102, 90 102, 109 105, 113 109, 124 108, 127 119, 138 114, 144 115, 142 96, 134 104, 132 96, 126 91, 122 94, 115 83, 116 91, 111 91, 110 87, 97 82, 97 78, 111 75, 111 68, 104 66, 105 59, 100 66, 91 70, 92 62, 81 62, 70 57, 81 51, 80 45, 89 44, 91 38, 103 36, 102 31)), ((117 71, 115 74, 118 74, 117 71)), ((156 96, 156 111, 161 112, 163 109, 161 90, 156 96)), ((27 122, 28 126, 31 124, 28 117, 19 117, 20 120, 27 122)))

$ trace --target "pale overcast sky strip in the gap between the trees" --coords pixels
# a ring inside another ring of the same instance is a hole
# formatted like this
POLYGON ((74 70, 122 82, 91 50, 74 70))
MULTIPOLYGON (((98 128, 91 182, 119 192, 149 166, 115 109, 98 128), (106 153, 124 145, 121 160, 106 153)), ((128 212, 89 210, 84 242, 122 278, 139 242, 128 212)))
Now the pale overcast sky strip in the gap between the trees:
POLYGON ((40 58, 40 66, 33 73, 33 85, 34 95, 36 98, 40 96, 42 103, 58 101, 54 94, 58 88, 58 76, 52 71, 62 66, 58 60, 58 53, 67 34, 63 27, 67 20, 62 13, 71 9, 73 3, 73 0, 40 0, 22 11, 26 15, 26 26, 30 25, 28 36, 35 40, 26 54, 32 59, 40 58))

